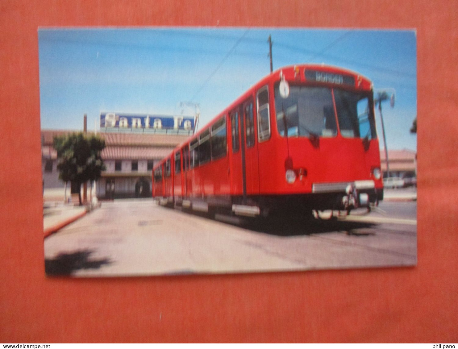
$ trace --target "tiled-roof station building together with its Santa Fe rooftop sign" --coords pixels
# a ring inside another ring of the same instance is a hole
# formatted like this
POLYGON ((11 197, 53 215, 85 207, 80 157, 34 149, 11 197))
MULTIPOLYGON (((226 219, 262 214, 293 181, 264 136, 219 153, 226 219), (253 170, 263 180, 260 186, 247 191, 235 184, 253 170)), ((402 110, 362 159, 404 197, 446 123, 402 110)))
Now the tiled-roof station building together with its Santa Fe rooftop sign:
MULTIPOLYGON (((98 199, 151 197, 153 166, 191 136, 194 120, 192 119, 189 127, 180 128, 175 126, 183 123, 182 117, 148 116, 146 119, 144 115, 116 114, 117 119, 114 120, 113 117, 113 122, 108 123, 105 122, 105 114, 101 114, 101 132, 97 135, 105 140, 101 155, 106 170, 93 188, 94 193, 98 199), (136 120, 140 120, 138 124, 135 124, 136 120), (146 125, 151 128, 145 127, 146 125), (163 125, 168 127, 161 127, 163 125)), ((53 148, 53 140, 55 136, 75 132, 81 131, 41 131, 43 189, 45 198, 49 200, 70 197, 70 185, 65 185, 59 179, 57 152, 53 148)), ((94 132, 87 134, 93 135, 94 132)))

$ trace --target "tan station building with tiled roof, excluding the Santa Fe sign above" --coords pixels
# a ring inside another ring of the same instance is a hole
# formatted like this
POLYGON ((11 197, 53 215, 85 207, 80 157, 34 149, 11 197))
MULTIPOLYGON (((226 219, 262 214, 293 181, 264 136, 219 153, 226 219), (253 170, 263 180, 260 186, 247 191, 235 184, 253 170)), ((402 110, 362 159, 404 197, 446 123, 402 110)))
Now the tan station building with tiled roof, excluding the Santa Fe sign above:
MULTIPOLYGON (((57 152, 52 144, 55 136, 72 132, 75 131, 41 131, 44 190, 65 187, 64 182, 59 180, 57 152)), ((106 167, 96 185, 99 199, 151 197, 153 166, 188 138, 112 132, 98 133, 98 136, 105 140, 102 159, 106 167)), ((70 192, 70 188, 67 191, 70 192)))

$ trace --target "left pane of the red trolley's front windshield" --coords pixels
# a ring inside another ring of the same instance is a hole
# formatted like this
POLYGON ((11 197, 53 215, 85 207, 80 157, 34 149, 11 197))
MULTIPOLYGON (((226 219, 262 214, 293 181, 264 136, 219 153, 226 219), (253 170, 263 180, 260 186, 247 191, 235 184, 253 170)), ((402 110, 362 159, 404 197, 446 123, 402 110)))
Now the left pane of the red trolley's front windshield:
POLYGON ((335 137, 337 122, 333 95, 327 87, 289 87, 288 98, 282 98, 275 86, 277 128, 281 136, 335 137))

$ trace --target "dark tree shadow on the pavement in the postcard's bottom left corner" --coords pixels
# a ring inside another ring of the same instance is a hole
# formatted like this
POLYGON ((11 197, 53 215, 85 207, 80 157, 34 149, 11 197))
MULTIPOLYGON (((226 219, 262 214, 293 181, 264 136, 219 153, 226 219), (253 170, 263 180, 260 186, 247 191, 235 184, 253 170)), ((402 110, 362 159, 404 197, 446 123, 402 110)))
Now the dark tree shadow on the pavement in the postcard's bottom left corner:
POLYGON ((45 273, 49 276, 69 276, 77 270, 98 269, 103 265, 112 263, 108 258, 89 259, 93 252, 82 250, 73 253, 60 253, 54 259, 45 259, 45 273))

